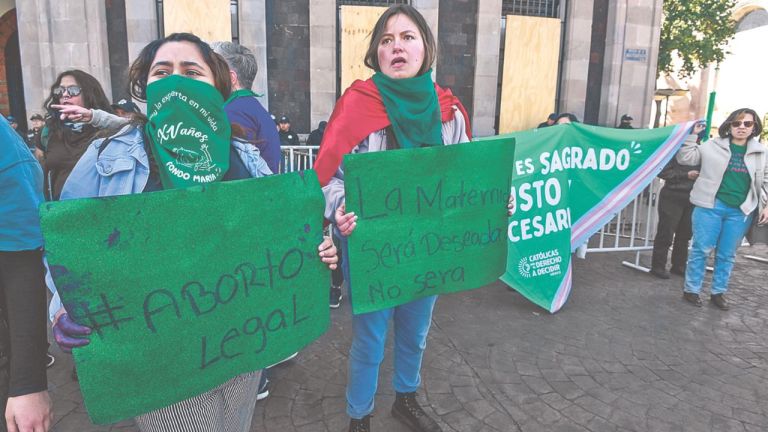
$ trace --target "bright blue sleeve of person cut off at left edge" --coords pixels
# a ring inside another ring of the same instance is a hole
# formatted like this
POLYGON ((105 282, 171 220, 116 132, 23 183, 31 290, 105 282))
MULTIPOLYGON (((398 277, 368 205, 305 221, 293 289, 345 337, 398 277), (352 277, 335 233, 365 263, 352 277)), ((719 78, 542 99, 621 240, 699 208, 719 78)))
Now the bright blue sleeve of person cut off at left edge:
POLYGON ((38 206, 43 202, 43 170, 8 121, 0 120, 0 251, 43 245, 38 206))

